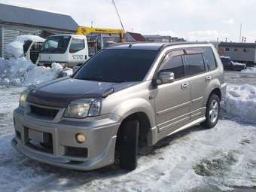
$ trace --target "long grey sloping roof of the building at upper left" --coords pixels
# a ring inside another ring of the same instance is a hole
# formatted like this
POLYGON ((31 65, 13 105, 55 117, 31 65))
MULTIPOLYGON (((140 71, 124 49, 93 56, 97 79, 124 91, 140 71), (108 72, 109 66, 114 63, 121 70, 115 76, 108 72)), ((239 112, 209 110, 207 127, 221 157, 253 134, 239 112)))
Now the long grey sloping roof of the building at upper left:
POLYGON ((56 14, 5 4, 0 4, 1 22, 43 26, 67 31, 75 31, 78 28, 78 23, 66 14, 56 14))

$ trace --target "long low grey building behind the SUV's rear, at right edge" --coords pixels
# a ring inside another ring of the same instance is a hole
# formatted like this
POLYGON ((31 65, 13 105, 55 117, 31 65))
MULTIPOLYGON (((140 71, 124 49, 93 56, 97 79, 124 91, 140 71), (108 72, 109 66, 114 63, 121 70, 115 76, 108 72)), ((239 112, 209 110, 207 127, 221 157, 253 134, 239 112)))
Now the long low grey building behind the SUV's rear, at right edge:
POLYGON ((256 43, 221 42, 218 44, 221 56, 230 56, 237 62, 256 63, 256 43))

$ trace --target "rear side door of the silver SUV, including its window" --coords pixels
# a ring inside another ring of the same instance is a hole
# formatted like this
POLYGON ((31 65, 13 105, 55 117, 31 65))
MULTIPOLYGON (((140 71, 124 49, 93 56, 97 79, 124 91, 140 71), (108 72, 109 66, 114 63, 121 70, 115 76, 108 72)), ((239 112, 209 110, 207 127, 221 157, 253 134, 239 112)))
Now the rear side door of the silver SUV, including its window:
POLYGON ((185 49, 184 62, 190 84, 191 94, 191 120, 205 115, 206 87, 212 80, 212 75, 208 74, 206 64, 203 59, 203 47, 190 47, 185 49))

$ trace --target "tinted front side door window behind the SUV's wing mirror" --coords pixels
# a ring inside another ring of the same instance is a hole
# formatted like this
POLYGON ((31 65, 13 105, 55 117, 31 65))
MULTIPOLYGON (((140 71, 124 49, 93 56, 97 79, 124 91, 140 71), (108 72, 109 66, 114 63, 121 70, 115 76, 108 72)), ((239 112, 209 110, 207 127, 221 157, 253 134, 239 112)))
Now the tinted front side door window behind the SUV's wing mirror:
POLYGON ((175 53, 168 53, 163 59, 162 65, 160 67, 161 72, 173 72, 174 78, 184 78, 184 65, 182 62, 181 55, 174 55, 175 53))

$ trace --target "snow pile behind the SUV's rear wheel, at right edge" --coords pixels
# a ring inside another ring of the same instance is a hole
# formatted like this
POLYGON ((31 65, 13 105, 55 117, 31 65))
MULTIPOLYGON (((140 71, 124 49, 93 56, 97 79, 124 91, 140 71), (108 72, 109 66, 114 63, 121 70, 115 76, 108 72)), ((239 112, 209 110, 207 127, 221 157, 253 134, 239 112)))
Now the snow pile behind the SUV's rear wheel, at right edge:
POLYGON ((222 108, 227 114, 248 123, 256 123, 256 87, 244 84, 227 86, 222 108))

